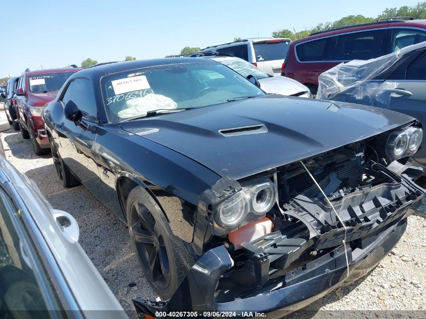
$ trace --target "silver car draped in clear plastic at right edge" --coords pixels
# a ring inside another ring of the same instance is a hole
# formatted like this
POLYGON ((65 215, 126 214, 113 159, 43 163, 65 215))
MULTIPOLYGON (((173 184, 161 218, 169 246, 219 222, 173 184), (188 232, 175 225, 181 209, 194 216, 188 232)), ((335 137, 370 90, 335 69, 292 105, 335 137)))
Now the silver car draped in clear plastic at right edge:
MULTIPOLYGON (((341 63, 321 74, 318 82, 317 98, 383 107, 426 123, 426 42, 367 61, 341 63)), ((412 159, 426 166, 424 143, 412 159)))

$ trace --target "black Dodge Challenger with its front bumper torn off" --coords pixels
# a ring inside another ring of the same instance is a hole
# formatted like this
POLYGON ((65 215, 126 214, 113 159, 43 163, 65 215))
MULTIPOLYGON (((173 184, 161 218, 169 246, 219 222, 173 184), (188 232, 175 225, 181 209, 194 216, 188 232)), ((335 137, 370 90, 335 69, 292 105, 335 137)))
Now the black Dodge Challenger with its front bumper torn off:
POLYGON ((129 225, 169 299, 141 313, 301 308, 375 267, 425 194, 414 118, 255 84, 206 59, 116 62, 43 110, 60 181, 129 225))

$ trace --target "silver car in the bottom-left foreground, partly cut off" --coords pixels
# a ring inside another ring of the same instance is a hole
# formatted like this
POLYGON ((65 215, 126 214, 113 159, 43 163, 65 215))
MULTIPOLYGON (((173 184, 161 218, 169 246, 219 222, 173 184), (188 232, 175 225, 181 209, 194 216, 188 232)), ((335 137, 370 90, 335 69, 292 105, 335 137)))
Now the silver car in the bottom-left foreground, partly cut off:
POLYGON ((0 156, 0 317, 128 318, 78 239, 76 220, 0 156))

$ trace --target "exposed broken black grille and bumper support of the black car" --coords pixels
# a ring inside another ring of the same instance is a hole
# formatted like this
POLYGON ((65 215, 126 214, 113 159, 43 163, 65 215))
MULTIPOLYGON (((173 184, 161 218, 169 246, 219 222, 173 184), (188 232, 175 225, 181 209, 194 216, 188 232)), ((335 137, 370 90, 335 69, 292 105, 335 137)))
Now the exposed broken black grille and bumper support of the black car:
POLYGON ((273 232, 241 244, 248 259, 244 269, 254 274, 252 281, 258 286, 292 269, 303 269, 343 242, 361 251, 401 223, 425 195, 411 179, 421 169, 366 161, 362 147, 333 150, 304 163, 343 221, 346 234, 300 162, 279 168, 281 213, 275 212, 273 232))

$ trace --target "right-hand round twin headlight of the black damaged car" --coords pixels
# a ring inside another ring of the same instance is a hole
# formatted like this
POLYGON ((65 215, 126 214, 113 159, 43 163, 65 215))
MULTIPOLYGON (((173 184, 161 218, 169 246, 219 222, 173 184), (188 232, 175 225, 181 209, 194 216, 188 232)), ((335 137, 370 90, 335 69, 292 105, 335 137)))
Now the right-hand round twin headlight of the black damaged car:
POLYGON ((411 156, 417 152, 422 139, 423 131, 419 127, 392 132, 386 142, 386 155, 390 160, 411 156))

